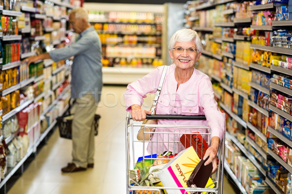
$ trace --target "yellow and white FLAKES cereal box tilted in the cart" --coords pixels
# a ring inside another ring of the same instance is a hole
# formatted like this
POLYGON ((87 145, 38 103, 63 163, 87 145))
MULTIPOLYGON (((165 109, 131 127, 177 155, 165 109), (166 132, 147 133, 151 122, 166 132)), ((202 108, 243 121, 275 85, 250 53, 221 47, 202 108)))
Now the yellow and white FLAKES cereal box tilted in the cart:
MULTIPOLYGON (((200 162, 193 146, 181 151, 176 157, 168 162, 161 171, 157 172, 164 187, 187 187, 186 181, 200 162)), ((213 188, 214 184, 209 178, 207 184, 209 188, 213 188)), ((168 194, 184 194, 185 189, 166 189, 168 194)), ((187 192, 190 194, 189 192, 187 192)))

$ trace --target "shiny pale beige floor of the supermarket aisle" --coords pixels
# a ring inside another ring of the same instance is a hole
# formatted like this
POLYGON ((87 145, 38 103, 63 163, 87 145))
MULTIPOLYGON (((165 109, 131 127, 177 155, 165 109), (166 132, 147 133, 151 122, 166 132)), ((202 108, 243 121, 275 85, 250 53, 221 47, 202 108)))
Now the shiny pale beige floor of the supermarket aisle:
MULTIPOLYGON (((55 130, 8 194, 126 194, 125 90, 125 86, 103 88, 94 168, 61 173, 71 162, 72 141, 60 138, 55 130)), ((151 98, 145 101, 151 103, 151 98)), ((223 188, 223 194, 235 194, 226 178, 223 188)))

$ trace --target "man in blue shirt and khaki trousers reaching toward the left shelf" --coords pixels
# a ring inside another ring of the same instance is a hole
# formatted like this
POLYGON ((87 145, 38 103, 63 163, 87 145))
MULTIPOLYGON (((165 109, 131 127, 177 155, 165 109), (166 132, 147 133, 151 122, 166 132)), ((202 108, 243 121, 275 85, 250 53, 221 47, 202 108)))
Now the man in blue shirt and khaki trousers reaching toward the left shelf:
POLYGON ((79 34, 76 42, 25 60, 29 65, 42 59, 53 59, 57 62, 74 56, 71 72, 71 97, 76 102, 72 124, 73 161, 61 169, 64 173, 93 168, 92 126, 102 89, 101 42, 89 23, 88 12, 83 8, 73 9, 69 22, 70 28, 79 34))

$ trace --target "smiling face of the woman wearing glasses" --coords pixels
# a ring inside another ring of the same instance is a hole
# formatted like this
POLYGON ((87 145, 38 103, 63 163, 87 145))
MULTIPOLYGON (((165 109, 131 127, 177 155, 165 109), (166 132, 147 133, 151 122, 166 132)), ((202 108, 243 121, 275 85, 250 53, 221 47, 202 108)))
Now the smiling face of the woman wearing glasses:
POLYGON ((201 52, 188 53, 186 49, 197 49, 196 43, 192 40, 189 42, 176 42, 173 48, 182 48, 183 52, 178 52, 175 49, 169 49, 170 58, 174 61, 174 64, 182 69, 193 69, 195 62, 200 59, 201 52))

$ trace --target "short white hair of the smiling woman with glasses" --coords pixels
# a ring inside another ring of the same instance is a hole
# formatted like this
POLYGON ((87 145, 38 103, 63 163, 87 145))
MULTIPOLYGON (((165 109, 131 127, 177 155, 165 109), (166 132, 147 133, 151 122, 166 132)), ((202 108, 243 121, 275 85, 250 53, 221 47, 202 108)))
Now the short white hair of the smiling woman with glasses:
POLYGON ((192 29, 181 29, 175 32, 169 41, 168 49, 172 49, 176 42, 189 42, 194 41, 196 43, 199 52, 203 51, 201 39, 196 31, 192 29))

